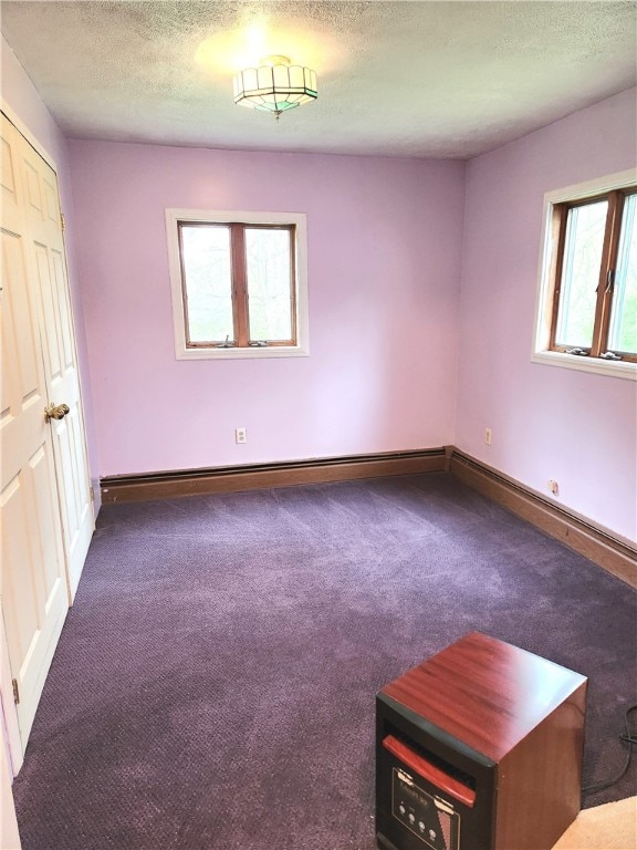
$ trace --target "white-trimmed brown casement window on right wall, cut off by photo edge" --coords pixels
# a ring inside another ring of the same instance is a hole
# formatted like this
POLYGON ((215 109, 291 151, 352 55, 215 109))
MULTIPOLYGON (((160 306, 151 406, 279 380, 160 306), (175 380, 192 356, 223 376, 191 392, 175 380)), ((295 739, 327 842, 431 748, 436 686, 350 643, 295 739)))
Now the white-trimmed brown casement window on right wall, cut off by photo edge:
POLYGON ((544 196, 532 360, 637 379, 637 173, 544 196))

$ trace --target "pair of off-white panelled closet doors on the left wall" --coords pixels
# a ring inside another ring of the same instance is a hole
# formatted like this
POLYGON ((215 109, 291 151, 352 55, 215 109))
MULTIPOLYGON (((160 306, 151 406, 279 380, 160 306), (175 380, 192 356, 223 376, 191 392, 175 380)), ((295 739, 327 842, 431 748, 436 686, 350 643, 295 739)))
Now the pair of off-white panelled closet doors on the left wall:
POLYGON ((56 177, 4 115, 1 146, 1 603, 24 747, 94 522, 56 177))

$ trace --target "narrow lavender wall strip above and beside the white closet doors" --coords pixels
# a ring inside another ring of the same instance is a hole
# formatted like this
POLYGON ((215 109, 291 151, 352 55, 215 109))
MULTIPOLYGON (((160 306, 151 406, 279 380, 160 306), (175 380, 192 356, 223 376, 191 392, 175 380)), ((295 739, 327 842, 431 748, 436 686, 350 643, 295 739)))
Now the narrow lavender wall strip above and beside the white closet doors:
POLYGON ((82 292, 75 265, 75 216, 71 197, 71 177, 69 174, 69 153, 66 139, 63 137, 51 113, 44 106, 38 91, 28 77, 22 65, 7 41, 0 42, 1 75, 2 75, 2 104, 9 117, 17 121, 19 129, 27 132, 30 141, 35 141, 41 148, 54 160, 60 185, 60 203, 64 212, 66 230, 64 243, 66 247, 66 261, 69 267, 69 281, 73 302, 73 318, 75 322, 75 336, 77 340, 77 354, 80 374, 82 381, 82 398, 88 439, 88 465, 93 488, 98 508, 100 485, 97 445, 93 428, 93 404, 91 394, 91 380, 88 372, 88 357, 86 355, 86 338, 84 333, 84 314, 82 305, 82 292))

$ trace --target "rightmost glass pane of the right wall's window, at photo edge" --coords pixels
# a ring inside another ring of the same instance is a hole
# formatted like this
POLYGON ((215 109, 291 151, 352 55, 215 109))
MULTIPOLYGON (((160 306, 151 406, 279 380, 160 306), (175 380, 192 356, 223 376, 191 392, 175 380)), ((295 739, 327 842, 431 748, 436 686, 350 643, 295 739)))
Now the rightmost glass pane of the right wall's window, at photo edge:
POLYGON ((608 349, 637 354, 637 195, 624 201, 608 349))

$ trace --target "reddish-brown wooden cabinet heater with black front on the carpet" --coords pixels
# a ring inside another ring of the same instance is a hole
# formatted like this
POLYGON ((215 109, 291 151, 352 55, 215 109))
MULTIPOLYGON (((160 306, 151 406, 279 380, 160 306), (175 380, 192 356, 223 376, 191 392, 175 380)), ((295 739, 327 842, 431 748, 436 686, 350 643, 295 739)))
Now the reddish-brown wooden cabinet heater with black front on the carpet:
POLYGON ((387 850, 551 850, 579 811, 587 680, 472 632, 376 698, 387 850))

